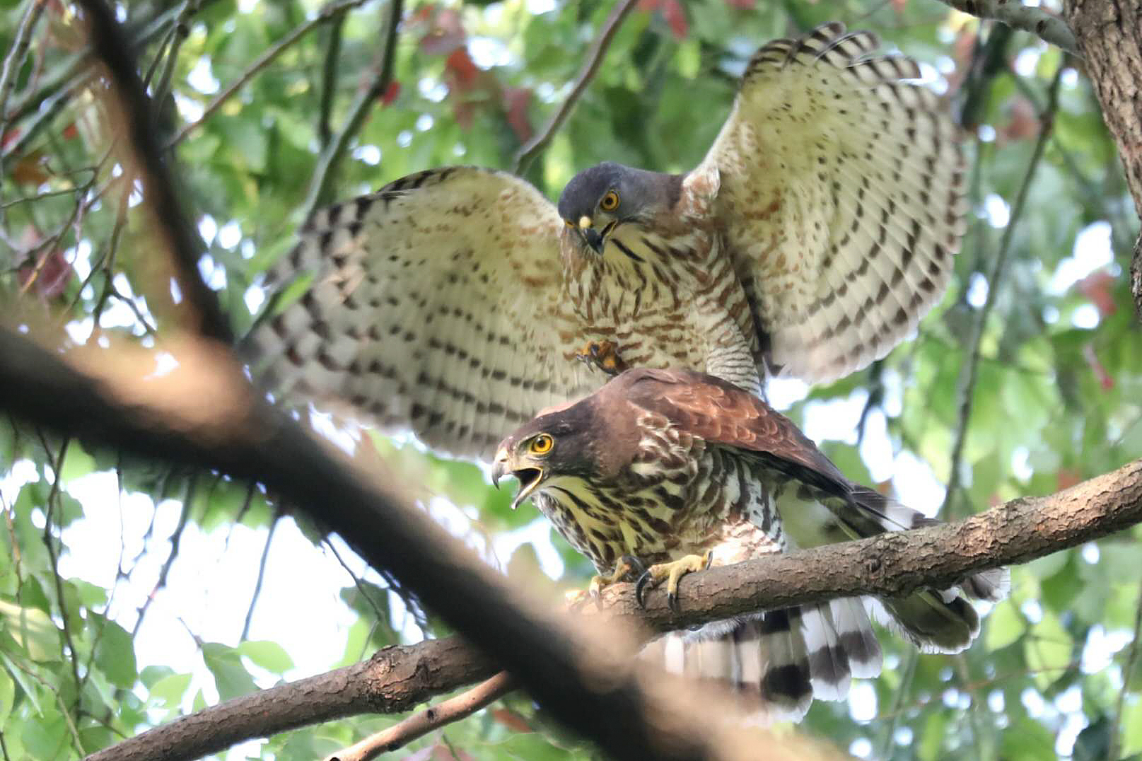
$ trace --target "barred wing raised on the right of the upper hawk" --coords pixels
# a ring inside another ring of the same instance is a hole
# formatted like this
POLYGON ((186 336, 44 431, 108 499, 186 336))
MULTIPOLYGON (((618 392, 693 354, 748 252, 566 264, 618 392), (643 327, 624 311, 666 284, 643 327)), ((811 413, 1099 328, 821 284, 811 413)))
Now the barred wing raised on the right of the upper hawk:
POLYGON ((943 294, 963 234, 957 130, 915 62, 841 24, 761 48, 699 169, 783 371, 884 357, 943 294))

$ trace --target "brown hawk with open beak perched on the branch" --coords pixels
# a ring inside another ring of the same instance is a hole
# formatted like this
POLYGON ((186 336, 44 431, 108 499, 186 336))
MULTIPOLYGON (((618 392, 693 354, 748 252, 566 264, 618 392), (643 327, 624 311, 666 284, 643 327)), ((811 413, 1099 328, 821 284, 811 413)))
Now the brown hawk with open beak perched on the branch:
MULTIPOLYGON (((757 396, 690 370, 628 370, 574 404, 545 412, 501 443, 493 480, 520 481, 600 576, 648 566, 668 580, 709 563, 934 523, 853 483, 788 418, 757 396)), ((1006 569, 958 590, 866 600, 925 651, 958 652, 980 631, 966 594, 998 600, 1006 569)), ((708 624, 656 643, 667 666, 731 681, 770 719, 799 719, 813 697, 839 699, 850 676, 880 671, 862 600, 842 599, 708 624)), ((654 646, 652 646, 654 647, 654 646)))

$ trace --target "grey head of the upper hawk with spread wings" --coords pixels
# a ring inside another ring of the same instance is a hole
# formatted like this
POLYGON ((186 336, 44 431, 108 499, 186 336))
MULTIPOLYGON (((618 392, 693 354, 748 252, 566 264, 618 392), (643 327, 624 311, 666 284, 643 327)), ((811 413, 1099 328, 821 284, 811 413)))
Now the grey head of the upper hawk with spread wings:
POLYGON ((682 175, 634 169, 606 161, 571 178, 560 195, 560 216, 578 232, 584 248, 602 254, 619 225, 653 226, 682 192, 682 175))

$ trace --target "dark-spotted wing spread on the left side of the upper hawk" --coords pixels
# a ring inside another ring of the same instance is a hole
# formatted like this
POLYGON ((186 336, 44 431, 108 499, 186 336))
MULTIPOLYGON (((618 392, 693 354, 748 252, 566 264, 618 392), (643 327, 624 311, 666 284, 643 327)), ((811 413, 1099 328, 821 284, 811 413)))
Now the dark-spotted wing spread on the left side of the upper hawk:
POLYGON ((540 408, 597 385, 564 355, 562 226, 530 184, 476 168, 324 209, 270 273, 272 287, 296 282, 286 298, 303 293, 250 336, 255 373, 488 456, 540 408))

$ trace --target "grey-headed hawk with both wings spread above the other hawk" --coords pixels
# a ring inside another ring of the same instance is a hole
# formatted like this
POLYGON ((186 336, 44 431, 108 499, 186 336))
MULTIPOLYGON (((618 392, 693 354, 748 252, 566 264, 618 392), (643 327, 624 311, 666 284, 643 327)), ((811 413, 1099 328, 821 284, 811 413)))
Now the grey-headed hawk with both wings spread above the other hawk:
POLYGON ((755 392, 866 366, 943 293, 964 210, 956 128, 878 45, 829 24, 761 48, 685 175, 604 163, 556 207, 450 167, 317 213, 270 273, 300 297, 251 335, 256 370, 488 456, 601 385, 588 344, 755 392))

